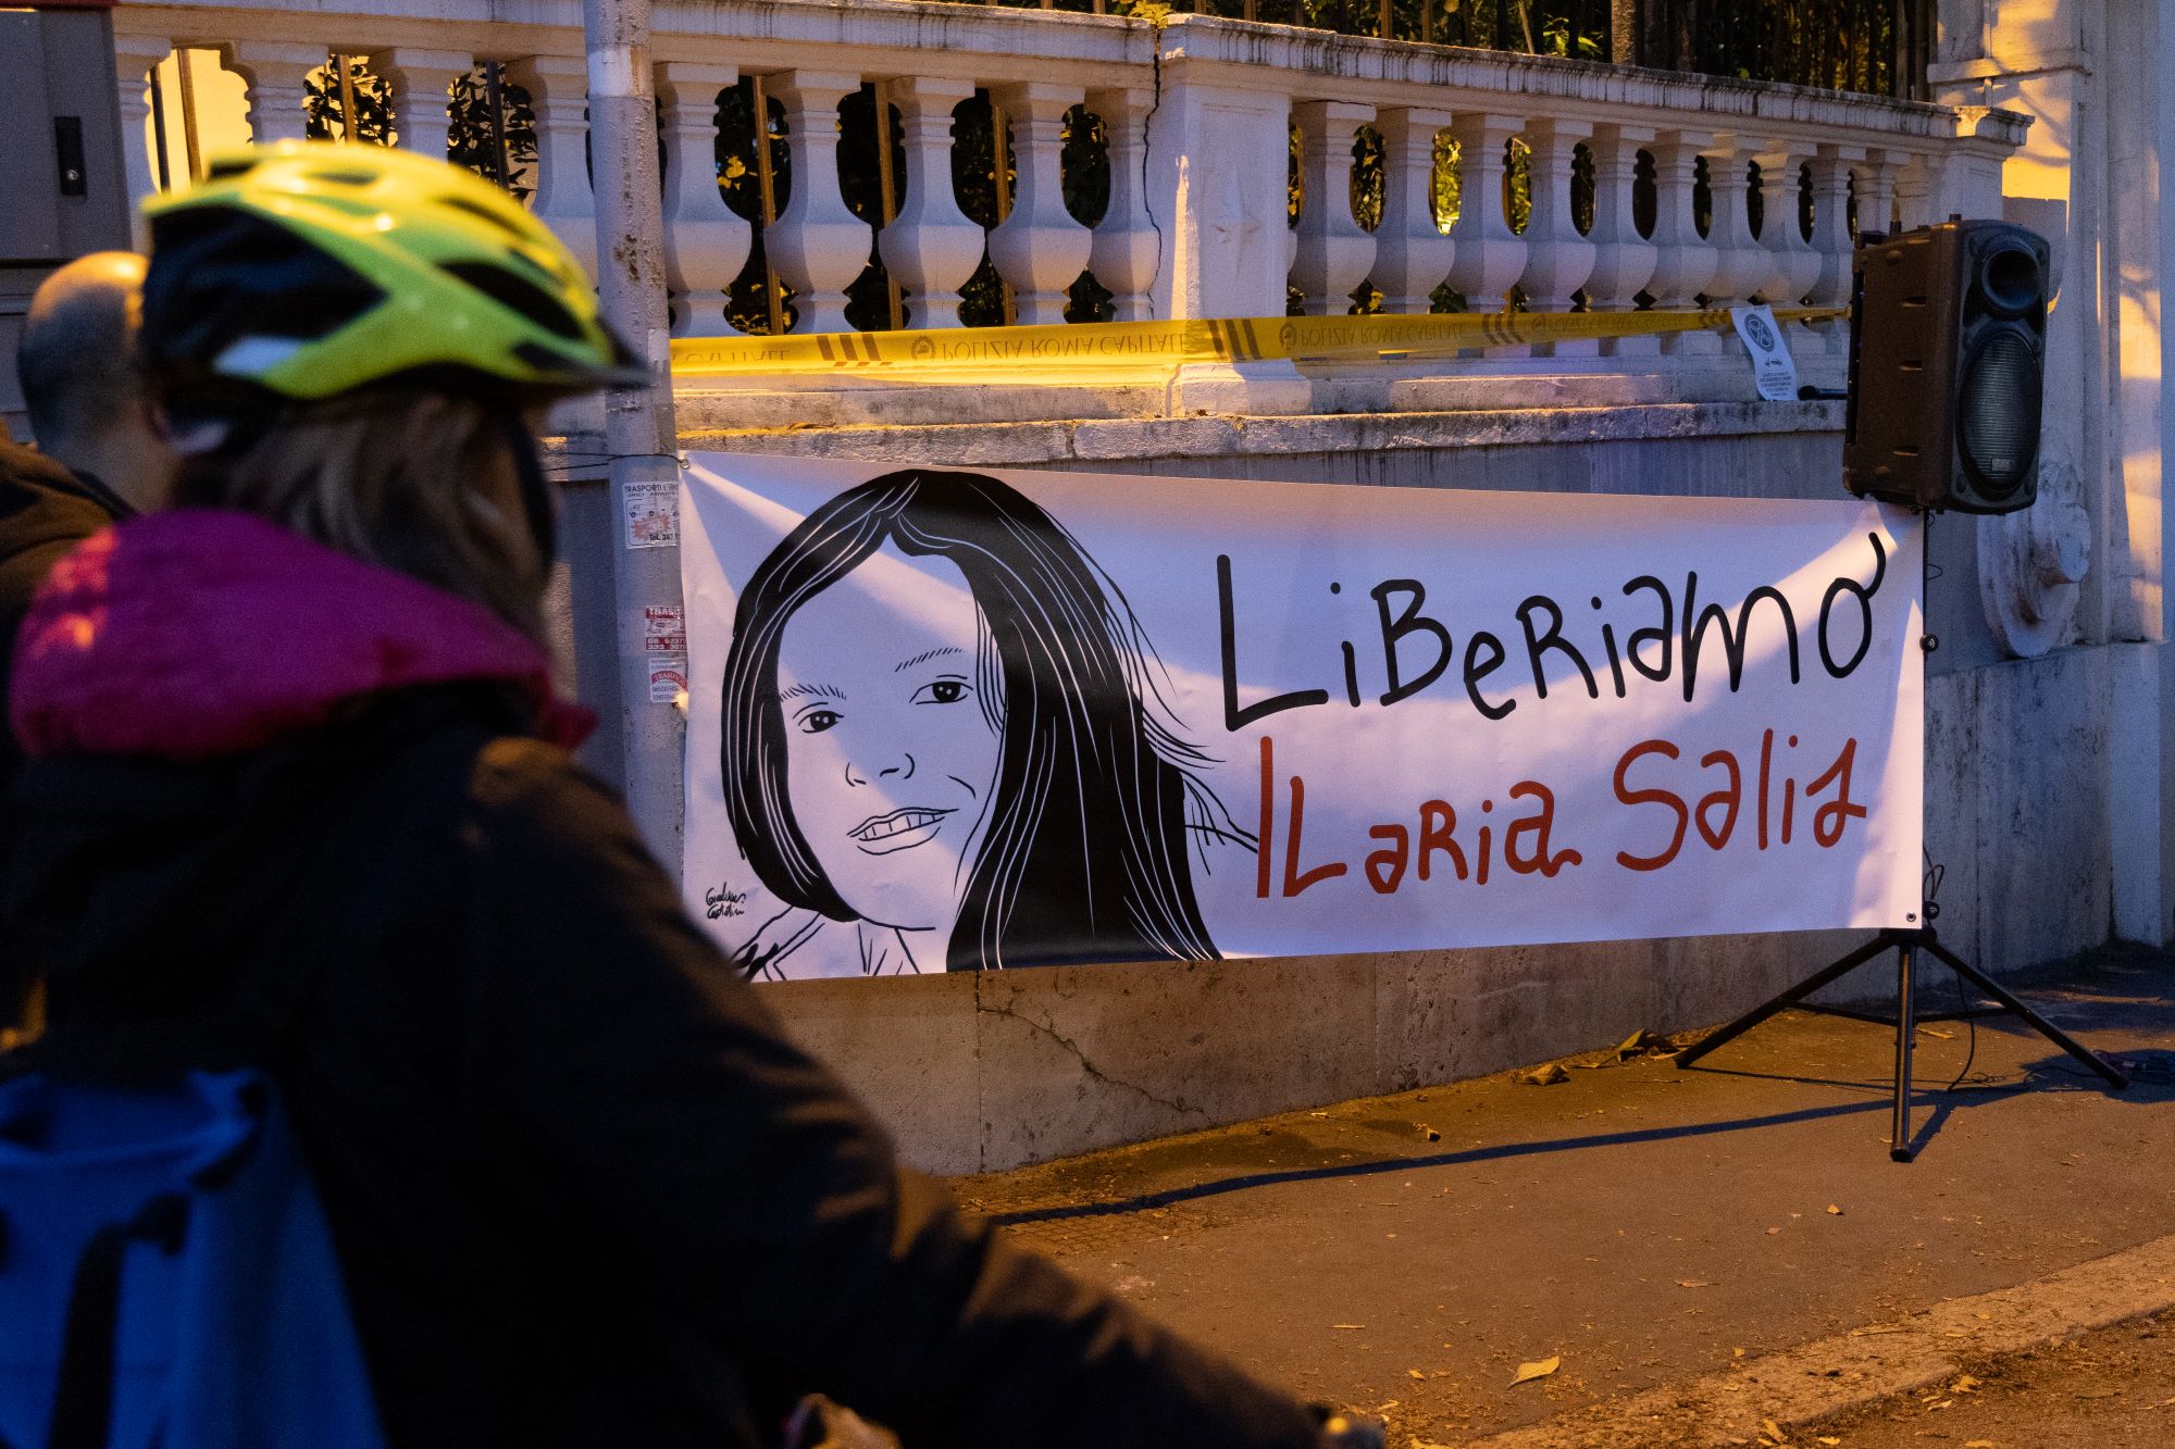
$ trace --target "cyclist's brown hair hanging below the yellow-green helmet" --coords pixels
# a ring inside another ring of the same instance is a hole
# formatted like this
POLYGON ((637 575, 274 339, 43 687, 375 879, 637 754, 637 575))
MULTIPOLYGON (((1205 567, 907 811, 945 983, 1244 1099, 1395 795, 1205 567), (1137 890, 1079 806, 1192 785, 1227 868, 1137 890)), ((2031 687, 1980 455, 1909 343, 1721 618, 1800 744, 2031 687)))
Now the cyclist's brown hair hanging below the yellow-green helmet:
POLYGON ((381 389, 294 413, 187 459, 174 500, 270 518, 544 637, 550 559, 529 531, 507 424, 472 398, 381 389))

